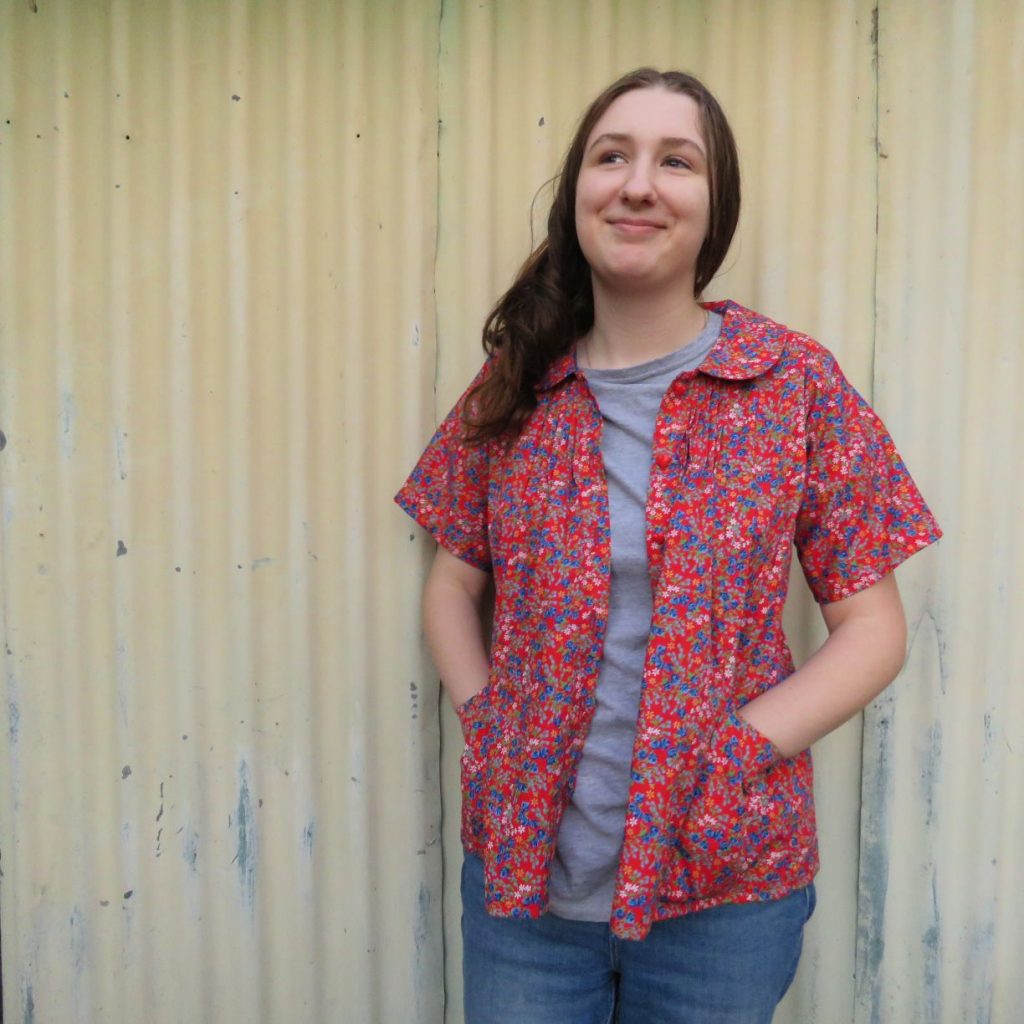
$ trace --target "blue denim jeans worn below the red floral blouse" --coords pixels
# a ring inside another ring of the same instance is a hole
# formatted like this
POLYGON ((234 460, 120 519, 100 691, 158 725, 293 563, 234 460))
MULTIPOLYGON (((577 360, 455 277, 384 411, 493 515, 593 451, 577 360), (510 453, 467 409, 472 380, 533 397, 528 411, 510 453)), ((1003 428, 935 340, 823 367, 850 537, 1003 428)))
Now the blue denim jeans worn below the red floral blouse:
POLYGON ((466 1024, 770 1024, 797 973, 814 887, 657 922, 492 918, 483 862, 462 868, 466 1024))

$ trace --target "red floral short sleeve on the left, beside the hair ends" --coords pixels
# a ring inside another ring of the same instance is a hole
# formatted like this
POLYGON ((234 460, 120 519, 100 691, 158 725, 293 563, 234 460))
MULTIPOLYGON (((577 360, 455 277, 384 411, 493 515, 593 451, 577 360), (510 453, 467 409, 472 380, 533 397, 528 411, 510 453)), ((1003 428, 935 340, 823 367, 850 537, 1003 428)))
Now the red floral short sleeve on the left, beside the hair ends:
MULTIPOLYGON (((485 366, 473 385, 486 370, 485 366)), ((465 439, 462 414, 468 392, 437 428, 394 500, 442 548, 476 568, 489 570, 489 445, 469 444, 465 439)))

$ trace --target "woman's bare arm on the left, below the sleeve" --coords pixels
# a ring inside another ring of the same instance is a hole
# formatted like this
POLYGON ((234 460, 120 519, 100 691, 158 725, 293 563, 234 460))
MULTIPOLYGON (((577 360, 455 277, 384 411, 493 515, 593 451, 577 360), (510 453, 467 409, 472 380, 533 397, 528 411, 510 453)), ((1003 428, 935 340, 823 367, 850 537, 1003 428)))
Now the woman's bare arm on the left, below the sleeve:
POLYGON ((427 646, 458 711, 487 683, 480 617, 490 573, 438 547, 423 590, 427 646))

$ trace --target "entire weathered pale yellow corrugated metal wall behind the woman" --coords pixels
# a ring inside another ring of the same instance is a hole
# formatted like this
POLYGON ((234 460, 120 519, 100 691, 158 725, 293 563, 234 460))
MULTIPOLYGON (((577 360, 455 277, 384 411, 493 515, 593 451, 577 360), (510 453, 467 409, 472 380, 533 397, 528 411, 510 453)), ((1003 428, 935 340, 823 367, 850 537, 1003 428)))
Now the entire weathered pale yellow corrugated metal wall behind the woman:
POLYGON ((714 293, 837 351, 946 529, 901 570, 906 671, 820 744, 778 1021, 1014 1021, 1022 8, 0 7, 9 1018, 461 1021, 458 732, 389 499, 643 62, 739 138, 714 293))

